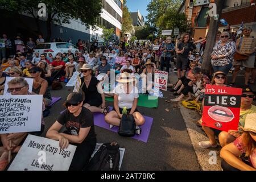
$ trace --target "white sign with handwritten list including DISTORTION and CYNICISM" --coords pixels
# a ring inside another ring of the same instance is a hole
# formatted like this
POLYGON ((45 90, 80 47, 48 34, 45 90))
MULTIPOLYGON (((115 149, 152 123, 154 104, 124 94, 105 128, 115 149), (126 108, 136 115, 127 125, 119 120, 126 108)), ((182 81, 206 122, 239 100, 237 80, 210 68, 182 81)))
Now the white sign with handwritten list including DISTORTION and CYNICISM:
POLYGON ((41 130, 43 95, 0 96, 0 134, 41 130))

